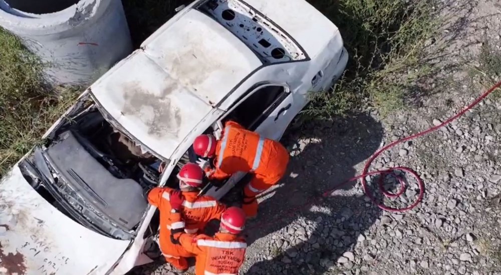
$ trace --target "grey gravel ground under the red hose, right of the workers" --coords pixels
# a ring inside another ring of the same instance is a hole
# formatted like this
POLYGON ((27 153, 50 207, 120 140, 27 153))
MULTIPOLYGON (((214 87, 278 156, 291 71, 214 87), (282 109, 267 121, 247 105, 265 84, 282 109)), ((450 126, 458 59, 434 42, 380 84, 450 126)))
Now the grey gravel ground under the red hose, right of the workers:
MULTIPOLYGON (((259 218, 247 225, 242 274, 501 274, 499 97, 374 161, 372 170, 407 166, 418 172, 426 187, 416 208, 382 211, 359 183, 319 198, 359 174, 383 144, 440 124, 485 90, 468 72, 478 66, 483 42, 501 46, 501 2, 443 5, 449 24, 429 46, 442 70, 423 82, 415 107, 386 119, 368 110, 291 131, 289 176, 261 198, 259 218)), ((419 188, 406 180, 400 199, 376 197, 387 205, 409 205, 419 188)), ((385 188, 395 191, 396 184, 390 179, 385 188)), ((137 274, 175 272, 155 264, 137 274)))

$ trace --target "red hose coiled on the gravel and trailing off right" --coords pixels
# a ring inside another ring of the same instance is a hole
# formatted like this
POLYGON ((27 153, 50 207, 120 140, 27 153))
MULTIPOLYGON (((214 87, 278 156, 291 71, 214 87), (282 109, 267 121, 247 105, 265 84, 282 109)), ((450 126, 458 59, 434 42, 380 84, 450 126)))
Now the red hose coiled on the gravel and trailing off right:
POLYGON ((355 176, 353 178, 350 178, 348 179, 347 181, 345 182, 342 182, 341 184, 338 184, 336 187, 334 187, 333 189, 330 189, 330 190, 327 190, 326 192, 324 192, 323 196, 324 197, 329 197, 332 192, 334 192, 336 189, 339 189, 341 186, 347 184, 347 183, 350 183, 352 181, 355 181, 355 180, 358 180, 358 179, 361 179, 361 182, 362 182, 362 186, 364 188, 364 192, 365 194, 371 199, 371 201, 376 204, 379 208, 383 209, 383 210, 386 210, 386 211, 391 211, 391 212, 403 212, 403 211, 406 211, 406 210, 410 210, 414 207, 416 207, 417 204, 419 204, 419 202, 421 202, 421 200, 423 199, 423 195, 424 195, 424 183, 423 183, 423 180, 419 177, 419 175, 414 171, 412 170, 411 168, 408 168, 408 167, 392 167, 392 168, 389 168, 388 170, 384 170, 384 171, 381 171, 381 170, 378 170, 378 171, 374 171, 374 172, 369 172, 369 167, 371 166, 372 162, 374 161, 374 159, 376 159, 382 152, 394 147, 395 145, 399 144, 399 143, 402 143, 404 141, 408 141, 408 140, 412 140, 412 139, 415 139, 415 138, 418 138, 418 137, 421 137, 421 136, 424 136, 426 134, 429 134, 435 130, 437 130, 438 128, 441 128, 449 123, 451 123, 452 121, 458 119, 460 116, 464 115, 464 113, 466 113, 468 110, 470 110, 471 108, 473 108, 475 105, 477 105, 480 101, 482 101, 486 96, 488 96, 490 93, 492 93, 495 89, 499 88, 501 86, 501 81, 499 81, 498 83, 496 83, 494 86, 492 86, 489 90, 487 90, 485 93, 483 93, 481 96, 479 96, 475 101, 473 101, 470 105, 466 106, 466 108, 464 108, 461 112, 455 114, 454 116, 450 117, 449 119, 447 119, 446 121, 442 122, 440 125, 437 125, 435 127, 432 127, 430 129, 427 129, 425 131, 422 131, 420 133, 417 133, 417 134, 414 134, 412 136, 408 136, 408 137, 405 137, 405 138, 402 138, 400 140, 397 140, 397 141, 394 141, 388 145, 386 145, 385 147, 379 149, 376 153, 374 153, 370 158, 369 160, 367 160, 367 162, 365 163, 365 166, 364 166, 364 169, 362 171, 362 174, 361 175, 358 175, 358 176, 355 176), (386 190, 384 190, 383 188, 383 176, 386 175, 386 174, 390 174, 392 171, 396 171, 396 170, 400 170, 400 171, 403 171, 403 172, 407 172, 409 173, 412 177, 414 177, 416 180, 417 180, 417 183, 419 185, 419 195, 417 197, 417 199, 409 206, 405 207, 405 208, 393 208, 393 207, 388 207, 382 203, 379 203, 373 196, 373 194, 369 191, 368 187, 367 187, 367 181, 365 179, 366 176, 371 176, 371 175, 381 175, 381 177, 379 177, 379 180, 378 180, 378 186, 379 186, 379 190, 386 196, 386 197, 391 197, 391 198, 397 198, 399 197, 400 195, 402 195, 402 193, 404 192, 405 190, 405 187, 406 187, 406 184, 405 184, 405 181, 403 180, 403 178, 401 176, 395 176, 396 179, 398 180, 398 182, 400 183, 400 189, 397 193, 391 193, 391 192, 388 192, 386 190))

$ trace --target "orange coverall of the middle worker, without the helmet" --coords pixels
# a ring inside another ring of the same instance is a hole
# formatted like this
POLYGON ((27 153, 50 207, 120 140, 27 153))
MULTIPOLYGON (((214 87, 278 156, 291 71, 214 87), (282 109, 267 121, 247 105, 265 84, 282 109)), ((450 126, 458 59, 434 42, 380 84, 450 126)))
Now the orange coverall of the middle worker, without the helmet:
MULTIPOLYGON (((176 224, 170 219, 172 210, 169 203, 169 192, 174 189, 167 187, 155 187, 148 193, 148 202, 160 210, 160 250, 165 260, 178 269, 188 268, 187 257, 195 255, 186 251, 181 245, 173 244, 170 239, 171 228, 176 224)), ((182 192, 184 202, 182 213, 185 216, 185 228, 187 233, 197 233, 203 230, 211 219, 220 219, 226 207, 210 196, 198 197, 198 192, 182 192)), ((183 226, 184 227, 184 226, 183 226)))

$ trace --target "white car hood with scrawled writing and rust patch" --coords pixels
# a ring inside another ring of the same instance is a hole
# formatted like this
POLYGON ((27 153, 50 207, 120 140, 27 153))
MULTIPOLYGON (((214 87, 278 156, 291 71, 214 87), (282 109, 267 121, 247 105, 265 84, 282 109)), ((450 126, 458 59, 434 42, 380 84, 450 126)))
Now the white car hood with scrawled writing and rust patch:
POLYGON ((0 274, 104 274, 128 244, 64 215, 17 165, 0 182, 0 274))

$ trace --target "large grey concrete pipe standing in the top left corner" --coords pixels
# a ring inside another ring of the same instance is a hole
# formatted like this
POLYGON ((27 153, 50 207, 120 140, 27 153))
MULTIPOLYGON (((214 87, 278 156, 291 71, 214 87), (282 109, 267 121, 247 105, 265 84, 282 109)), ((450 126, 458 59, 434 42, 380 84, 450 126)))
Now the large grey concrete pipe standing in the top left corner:
POLYGON ((0 26, 47 63, 51 84, 89 85, 132 52, 120 0, 0 0, 0 26))

